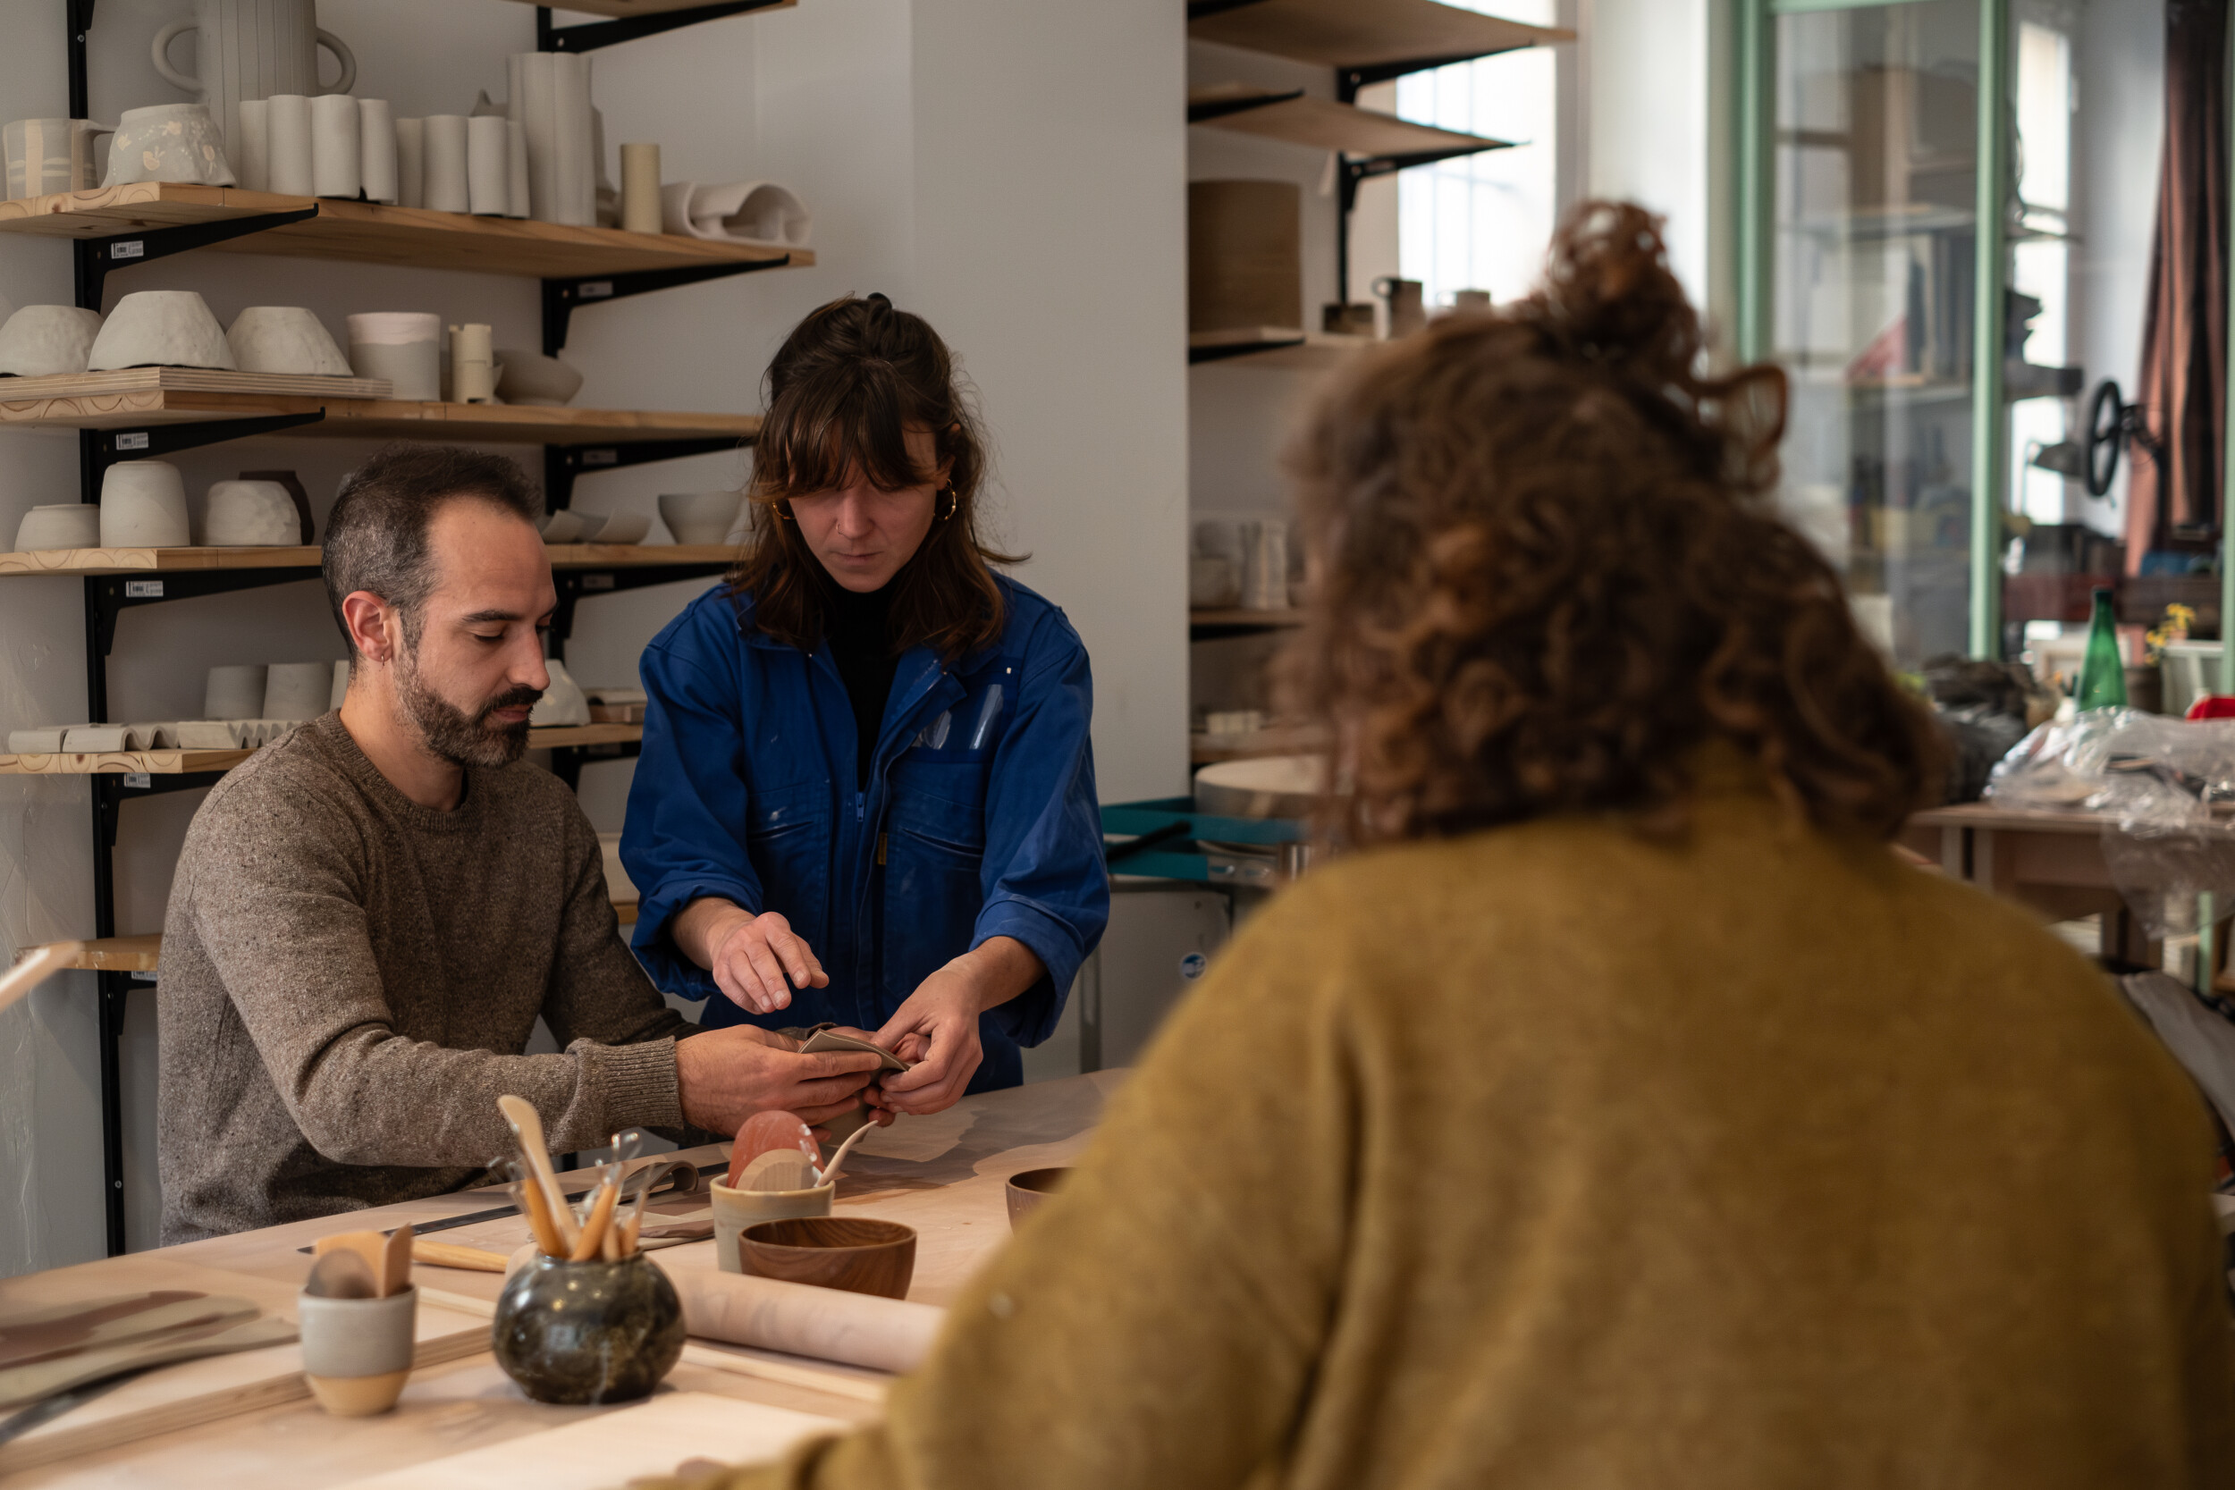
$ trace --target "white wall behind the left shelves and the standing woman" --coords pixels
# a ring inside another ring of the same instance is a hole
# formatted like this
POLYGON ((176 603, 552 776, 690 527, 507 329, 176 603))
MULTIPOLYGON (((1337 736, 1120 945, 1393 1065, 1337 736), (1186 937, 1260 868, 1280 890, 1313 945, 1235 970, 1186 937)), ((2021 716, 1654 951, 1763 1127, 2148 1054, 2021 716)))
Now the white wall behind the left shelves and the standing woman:
MULTIPOLYGON (((816 210, 818 266, 646 295, 574 317, 568 360, 583 407, 758 409, 760 371, 798 317, 843 293, 883 290, 925 313, 983 393, 1006 543, 1021 579, 1080 625, 1095 657, 1104 800, 1185 786, 1185 156, 1178 7, 1046 7, 1035 0, 802 0, 595 54, 608 147, 662 143, 666 176, 778 179, 816 210), (1118 13, 1102 16, 1102 9, 1118 13), (1167 13, 1169 9, 1169 13, 1167 13)), ((148 60, 183 0, 101 0, 94 114, 179 94, 148 60)), ((60 114, 60 7, 7 0, 7 118, 60 114)), ((561 20, 588 20, 565 18, 561 20)), ((503 92, 503 58, 534 45, 525 4, 322 0, 320 22, 360 60, 360 96, 402 116, 463 112, 503 92)), ((179 45, 186 60, 190 47, 179 45)), ((342 315, 427 308, 485 319, 534 346, 532 281, 183 255, 112 279, 197 288, 219 317, 248 304, 342 315)), ((51 241, 0 239, 0 293, 67 302, 51 241)), ((190 489, 244 467, 295 467, 320 516, 369 447, 261 440, 179 458, 190 489)), ((536 451, 514 451, 539 469, 536 451)), ((659 491, 733 487, 742 456, 586 478, 577 505, 653 512, 659 491)), ((76 498, 76 442, 0 433, 0 541, 34 503, 76 498)), ((653 541, 664 541, 655 527, 653 541)), ((702 585, 581 608, 568 650, 588 681, 635 675, 644 641, 702 585)), ((0 728, 85 717, 80 588, 0 583, 0 728)), ((199 713, 219 661, 340 657, 315 585, 145 608, 112 659, 112 717, 199 713)), ((590 766, 583 804, 619 827, 633 764, 590 766)), ((127 806, 118 929, 161 927, 170 865, 201 793, 127 806)), ((0 777, 0 958, 92 932, 89 809, 78 782, 0 777)), ((0 1014, 0 1273, 101 1253, 101 1153, 92 978, 69 974, 0 1014)), ((127 1028, 127 1206, 152 1240, 152 994, 127 1028)))

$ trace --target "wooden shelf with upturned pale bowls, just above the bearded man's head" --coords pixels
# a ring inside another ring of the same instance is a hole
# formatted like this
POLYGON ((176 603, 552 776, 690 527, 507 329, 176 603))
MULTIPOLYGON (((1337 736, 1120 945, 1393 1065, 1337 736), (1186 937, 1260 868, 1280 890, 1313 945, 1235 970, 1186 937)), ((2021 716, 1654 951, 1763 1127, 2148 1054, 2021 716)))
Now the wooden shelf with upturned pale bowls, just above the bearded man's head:
POLYGON ((628 409, 543 409, 532 404, 413 404, 391 398, 304 398, 295 393, 210 393, 179 386, 192 369, 134 366, 87 373, 98 393, 7 398, 0 427, 139 429, 201 420, 259 420, 317 413, 286 436, 340 440, 472 440, 485 445, 628 445, 633 440, 738 440, 760 433, 758 413, 666 413, 628 409))

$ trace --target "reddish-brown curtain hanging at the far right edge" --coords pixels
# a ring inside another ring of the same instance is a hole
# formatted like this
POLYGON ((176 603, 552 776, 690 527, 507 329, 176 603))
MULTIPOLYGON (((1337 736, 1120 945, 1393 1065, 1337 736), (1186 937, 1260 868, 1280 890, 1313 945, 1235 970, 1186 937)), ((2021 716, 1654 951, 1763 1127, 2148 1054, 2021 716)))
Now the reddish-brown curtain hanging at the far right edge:
POLYGON ((2128 449, 2125 563, 2219 525, 2228 328, 2228 0, 2166 0, 2166 143, 2134 402, 2163 462, 2128 449))

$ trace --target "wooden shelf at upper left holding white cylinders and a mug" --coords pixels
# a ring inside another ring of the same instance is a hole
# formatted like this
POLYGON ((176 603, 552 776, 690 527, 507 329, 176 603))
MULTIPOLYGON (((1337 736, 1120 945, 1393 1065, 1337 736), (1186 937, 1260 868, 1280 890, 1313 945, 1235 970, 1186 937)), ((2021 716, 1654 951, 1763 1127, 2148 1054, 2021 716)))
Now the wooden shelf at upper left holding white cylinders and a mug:
MULTIPOLYGON (((615 16, 666 7, 659 0, 615 0, 615 16)), ((221 223, 268 212, 317 217, 266 232, 212 243, 217 252, 282 255, 291 259, 342 259, 349 264, 400 264, 409 268, 463 268, 483 275, 574 279, 583 275, 628 275, 657 268, 704 268, 715 264, 767 264, 789 255, 791 268, 807 268, 816 255, 805 248, 711 243, 666 232, 619 228, 565 228, 510 217, 467 217, 431 208, 382 208, 371 201, 279 197, 232 185, 181 185, 141 181, 92 192, 58 192, 0 201, 0 232, 34 237, 110 239, 148 228, 221 223)))

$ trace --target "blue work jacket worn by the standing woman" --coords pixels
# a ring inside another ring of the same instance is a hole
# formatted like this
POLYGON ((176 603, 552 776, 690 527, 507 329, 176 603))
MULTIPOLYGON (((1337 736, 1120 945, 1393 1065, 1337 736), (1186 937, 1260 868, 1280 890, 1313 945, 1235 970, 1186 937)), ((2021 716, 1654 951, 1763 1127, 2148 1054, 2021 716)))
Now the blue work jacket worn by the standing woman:
POLYGON ((865 789, 829 648, 767 637, 751 596, 708 590, 646 648, 621 862, 641 896, 637 956, 659 987, 706 999, 702 1023, 874 1032, 950 958, 1015 936, 1048 976, 979 1016, 970 1090, 1024 1079, 1019 1048, 1048 1039, 1102 940, 1109 873, 1086 648, 1055 605, 997 583, 1008 623, 995 646, 954 666, 901 655, 865 789), (780 911, 829 987, 796 987, 776 1014, 740 1010, 668 934, 702 896, 780 911))

